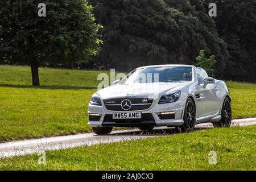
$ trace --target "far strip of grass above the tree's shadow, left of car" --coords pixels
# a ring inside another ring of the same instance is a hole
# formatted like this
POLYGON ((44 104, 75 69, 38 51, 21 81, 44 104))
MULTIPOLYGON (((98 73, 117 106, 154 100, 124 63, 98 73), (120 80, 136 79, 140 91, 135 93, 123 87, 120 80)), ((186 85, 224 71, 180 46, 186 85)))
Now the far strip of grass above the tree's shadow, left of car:
MULTIPOLYGON (((97 88, 97 76, 106 71, 39 68, 40 84, 46 88, 91 89, 97 88)), ((30 67, 0 65, 0 85, 31 85, 30 67)), ((23 88, 21 86, 21 88, 23 88)))

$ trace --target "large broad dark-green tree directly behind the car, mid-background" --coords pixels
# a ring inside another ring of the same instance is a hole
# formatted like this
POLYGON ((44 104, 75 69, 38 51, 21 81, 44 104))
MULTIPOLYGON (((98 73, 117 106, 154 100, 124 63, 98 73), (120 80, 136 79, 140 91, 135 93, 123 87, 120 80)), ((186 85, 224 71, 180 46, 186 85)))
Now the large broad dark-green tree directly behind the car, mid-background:
MULTIPOLYGON (((218 73, 228 60, 212 18, 200 0, 89 0, 104 26, 101 59, 110 67, 131 70, 149 64, 196 64, 205 49, 216 55, 218 73)), ((104 63, 102 63, 104 64, 104 63)), ((220 75, 220 74, 219 74, 220 75)))

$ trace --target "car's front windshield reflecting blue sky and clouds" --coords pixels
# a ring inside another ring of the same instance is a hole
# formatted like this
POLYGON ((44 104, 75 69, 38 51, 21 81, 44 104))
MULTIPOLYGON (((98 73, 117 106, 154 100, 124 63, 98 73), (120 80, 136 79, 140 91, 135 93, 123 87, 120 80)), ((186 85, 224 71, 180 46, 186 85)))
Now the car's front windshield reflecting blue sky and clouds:
POLYGON ((125 83, 179 82, 191 80, 191 67, 163 66, 138 68, 127 78, 125 83))

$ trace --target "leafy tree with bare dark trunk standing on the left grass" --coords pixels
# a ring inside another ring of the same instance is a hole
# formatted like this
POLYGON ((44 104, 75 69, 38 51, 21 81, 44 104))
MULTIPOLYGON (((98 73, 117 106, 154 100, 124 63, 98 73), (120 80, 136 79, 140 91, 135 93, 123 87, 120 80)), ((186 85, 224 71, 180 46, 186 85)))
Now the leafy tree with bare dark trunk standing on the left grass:
POLYGON ((44 0, 46 17, 38 16, 39 1, 0 2, 0 60, 29 64, 32 85, 40 85, 43 65, 82 63, 98 51, 92 7, 85 0, 44 0))

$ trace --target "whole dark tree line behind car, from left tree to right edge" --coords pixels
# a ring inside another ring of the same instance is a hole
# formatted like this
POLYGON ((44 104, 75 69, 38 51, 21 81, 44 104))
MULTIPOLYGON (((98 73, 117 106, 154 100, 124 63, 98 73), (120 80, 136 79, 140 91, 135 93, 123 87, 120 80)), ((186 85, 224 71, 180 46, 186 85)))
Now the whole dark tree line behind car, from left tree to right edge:
POLYGON ((91 63, 133 69, 196 64, 201 49, 216 55, 215 75, 256 80, 256 0, 90 0, 104 44, 91 63), (208 16, 209 3, 217 17, 208 16))

